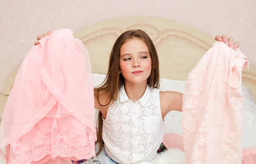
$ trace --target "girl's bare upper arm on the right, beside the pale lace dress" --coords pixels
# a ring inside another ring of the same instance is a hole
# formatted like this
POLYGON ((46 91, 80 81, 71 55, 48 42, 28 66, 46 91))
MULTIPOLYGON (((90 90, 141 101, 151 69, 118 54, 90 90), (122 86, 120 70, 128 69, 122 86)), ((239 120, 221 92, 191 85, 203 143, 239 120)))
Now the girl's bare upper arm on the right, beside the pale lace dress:
POLYGON ((172 110, 182 112, 182 103, 182 93, 173 91, 160 92, 160 107, 163 119, 172 110))

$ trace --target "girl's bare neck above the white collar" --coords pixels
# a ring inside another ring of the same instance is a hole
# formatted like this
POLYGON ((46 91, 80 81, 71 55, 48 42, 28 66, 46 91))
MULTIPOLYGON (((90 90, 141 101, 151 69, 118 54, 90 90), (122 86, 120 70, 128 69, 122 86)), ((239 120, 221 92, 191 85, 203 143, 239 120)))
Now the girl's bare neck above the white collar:
POLYGON ((147 81, 139 84, 125 82, 125 93, 132 102, 137 102, 145 93, 147 81))

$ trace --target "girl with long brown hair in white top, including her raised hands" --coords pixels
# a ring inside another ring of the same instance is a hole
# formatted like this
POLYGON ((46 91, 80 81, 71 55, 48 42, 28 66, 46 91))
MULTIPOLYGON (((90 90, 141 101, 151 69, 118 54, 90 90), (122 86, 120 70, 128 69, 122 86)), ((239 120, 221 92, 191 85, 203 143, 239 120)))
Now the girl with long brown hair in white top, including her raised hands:
MULTIPOLYGON (((216 36, 215 40, 227 42, 227 37, 216 36)), ((228 44, 233 44, 232 37, 228 44)), ((235 42, 233 48, 238 45, 235 42)), ((181 111, 183 103, 182 93, 161 92, 159 79, 157 51, 150 37, 141 30, 121 34, 113 45, 105 82, 94 89, 95 108, 99 109, 97 156, 105 150, 103 154, 122 164, 156 158, 163 120, 170 111, 181 111)))

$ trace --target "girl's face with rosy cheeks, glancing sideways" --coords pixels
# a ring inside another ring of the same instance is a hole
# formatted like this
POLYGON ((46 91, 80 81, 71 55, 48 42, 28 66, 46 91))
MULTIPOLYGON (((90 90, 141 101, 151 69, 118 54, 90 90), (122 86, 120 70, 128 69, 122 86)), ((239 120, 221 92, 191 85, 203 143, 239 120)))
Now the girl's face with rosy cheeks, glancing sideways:
POLYGON ((143 40, 134 38, 121 46, 120 72, 126 82, 147 82, 151 74, 151 57, 143 40))

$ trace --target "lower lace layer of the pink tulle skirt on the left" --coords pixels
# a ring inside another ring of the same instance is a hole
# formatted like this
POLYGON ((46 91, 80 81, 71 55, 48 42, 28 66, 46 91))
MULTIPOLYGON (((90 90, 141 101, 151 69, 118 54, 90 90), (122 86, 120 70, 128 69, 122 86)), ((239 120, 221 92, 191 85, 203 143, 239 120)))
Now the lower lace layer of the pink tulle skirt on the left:
POLYGON ((67 118, 45 117, 9 144, 8 164, 42 164, 57 157, 77 161, 95 156, 96 134, 84 124, 70 127, 70 122, 63 123, 63 120, 67 121, 67 118))

